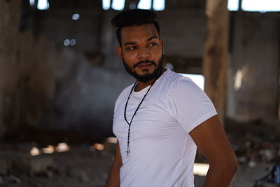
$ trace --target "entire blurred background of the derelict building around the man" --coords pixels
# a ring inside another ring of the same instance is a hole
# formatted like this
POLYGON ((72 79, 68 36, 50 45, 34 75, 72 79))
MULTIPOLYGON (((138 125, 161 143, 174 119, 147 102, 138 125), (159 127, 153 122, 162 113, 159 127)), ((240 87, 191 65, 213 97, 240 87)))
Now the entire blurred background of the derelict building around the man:
POLYGON ((214 102, 240 164, 232 186, 279 163, 279 0, 0 0, 0 185, 104 186, 114 103, 134 82, 111 18, 133 8, 156 11, 165 67, 214 102))

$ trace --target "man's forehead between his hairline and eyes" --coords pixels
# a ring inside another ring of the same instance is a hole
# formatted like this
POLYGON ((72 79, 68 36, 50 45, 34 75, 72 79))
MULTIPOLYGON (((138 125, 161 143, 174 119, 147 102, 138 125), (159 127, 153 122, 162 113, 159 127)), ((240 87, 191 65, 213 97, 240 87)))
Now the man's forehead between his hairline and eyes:
POLYGON ((137 26, 127 26, 123 27, 120 31, 120 36, 122 41, 127 40, 137 40, 137 39, 150 39, 152 36, 157 36, 158 31, 153 23, 137 25, 137 26))

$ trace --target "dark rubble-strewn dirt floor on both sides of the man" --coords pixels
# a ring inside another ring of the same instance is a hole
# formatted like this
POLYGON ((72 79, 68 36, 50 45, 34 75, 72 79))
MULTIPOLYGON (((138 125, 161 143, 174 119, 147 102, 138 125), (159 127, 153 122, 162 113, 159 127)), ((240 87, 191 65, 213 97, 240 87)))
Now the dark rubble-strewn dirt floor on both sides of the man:
MULTIPOLYGON (((253 187, 256 179, 265 176, 279 162, 280 125, 267 125, 263 121, 227 121, 227 124, 230 125, 225 130, 239 161, 239 171, 232 187, 253 187)), ((42 137, 38 133, 36 136, 42 137)), ((40 140, 41 143, 38 138, 37 141, 23 139, 17 142, 0 142, 0 187, 104 186, 116 144, 110 143, 108 139, 99 141, 100 144, 71 144, 69 141, 69 151, 57 152, 59 141, 55 144, 49 134, 46 137, 48 139, 40 140), (54 151, 53 153, 42 153, 43 148, 48 145, 46 141, 52 142, 47 152, 54 151), (39 155, 30 155, 34 147, 38 148, 35 152, 39 151, 39 155)), ((196 162, 206 160, 198 153, 196 162)), ((203 186, 204 179, 205 176, 195 175, 195 186, 203 186)))

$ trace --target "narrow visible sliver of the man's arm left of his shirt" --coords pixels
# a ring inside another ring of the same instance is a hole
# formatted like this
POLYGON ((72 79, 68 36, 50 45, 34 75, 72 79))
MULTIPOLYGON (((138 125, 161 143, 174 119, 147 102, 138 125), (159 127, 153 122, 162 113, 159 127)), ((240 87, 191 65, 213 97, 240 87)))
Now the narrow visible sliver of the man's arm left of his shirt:
POLYGON ((120 187, 120 167, 123 165, 120 155, 120 145, 116 145, 116 155, 106 181, 106 187, 120 187))

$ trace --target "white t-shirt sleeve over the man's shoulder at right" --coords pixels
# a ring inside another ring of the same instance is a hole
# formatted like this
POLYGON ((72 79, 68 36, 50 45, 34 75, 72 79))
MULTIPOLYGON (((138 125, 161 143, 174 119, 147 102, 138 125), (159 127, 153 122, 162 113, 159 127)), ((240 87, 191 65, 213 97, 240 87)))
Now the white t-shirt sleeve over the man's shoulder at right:
POLYGON ((172 114, 186 132, 216 115, 216 109, 206 93, 190 78, 178 78, 169 90, 172 114))

